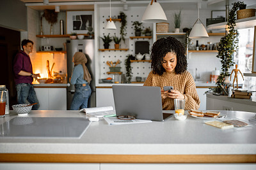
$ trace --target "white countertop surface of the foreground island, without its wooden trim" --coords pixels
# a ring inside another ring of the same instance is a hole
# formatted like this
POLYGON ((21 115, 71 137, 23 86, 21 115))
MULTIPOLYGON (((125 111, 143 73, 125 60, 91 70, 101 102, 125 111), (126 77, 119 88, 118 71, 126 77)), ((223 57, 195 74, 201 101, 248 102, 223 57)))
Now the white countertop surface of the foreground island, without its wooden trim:
MULTIPOLYGON (((243 120, 255 115, 244 111, 221 113, 243 120)), ((15 117, 18 116, 10 111, 10 115, 0 118, 2 133, 3 123, 15 117)), ((62 110, 31 111, 27 117, 85 117, 85 114, 62 110)), ((4 138, 0 134, 0 153, 256 154, 256 122, 250 122, 251 127, 221 130, 205 125, 204 121, 188 116, 183 122, 170 117, 164 122, 108 125, 100 118, 99 122, 92 122, 80 139, 4 138)))

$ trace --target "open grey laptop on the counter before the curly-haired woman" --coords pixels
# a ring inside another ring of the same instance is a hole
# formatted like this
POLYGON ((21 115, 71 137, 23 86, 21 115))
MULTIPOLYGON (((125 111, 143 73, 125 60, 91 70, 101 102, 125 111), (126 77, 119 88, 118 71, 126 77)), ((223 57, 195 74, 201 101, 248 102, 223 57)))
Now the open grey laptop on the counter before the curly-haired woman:
POLYGON ((171 113, 162 110, 160 87, 113 85, 116 115, 130 115, 138 119, 163 121, 171 113))

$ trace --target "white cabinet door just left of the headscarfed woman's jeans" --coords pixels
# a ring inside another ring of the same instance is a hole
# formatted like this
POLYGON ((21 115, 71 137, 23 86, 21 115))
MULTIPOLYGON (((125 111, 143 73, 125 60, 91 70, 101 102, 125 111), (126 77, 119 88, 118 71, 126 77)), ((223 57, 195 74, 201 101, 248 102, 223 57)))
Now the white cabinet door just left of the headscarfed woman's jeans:
POLYGON ((49 88, 49 110, 67 110, 67 89, 49 88))

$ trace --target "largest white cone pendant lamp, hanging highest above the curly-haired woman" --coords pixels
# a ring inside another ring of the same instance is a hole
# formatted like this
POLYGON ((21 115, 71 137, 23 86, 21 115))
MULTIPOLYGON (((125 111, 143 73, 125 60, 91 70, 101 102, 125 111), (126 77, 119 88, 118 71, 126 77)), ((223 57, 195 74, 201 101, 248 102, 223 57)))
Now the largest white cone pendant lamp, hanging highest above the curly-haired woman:
POLYGON ((166 22, 167 18, 161 4, 157 3, 156 0, 152 0, 148 4, 141 22, 154 23, 154 22, 166 22), (153 2, 155 1, 155 2, 153 2))

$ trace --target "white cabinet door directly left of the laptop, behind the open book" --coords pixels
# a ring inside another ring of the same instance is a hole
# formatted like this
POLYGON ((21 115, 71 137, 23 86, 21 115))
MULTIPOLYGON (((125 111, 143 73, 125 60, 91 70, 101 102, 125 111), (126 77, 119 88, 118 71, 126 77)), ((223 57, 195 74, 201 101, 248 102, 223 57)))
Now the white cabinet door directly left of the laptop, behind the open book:
POLYGON ((112 88, 97 88, 96 89, 96 106, 113 106, 115 108, 112 88))

